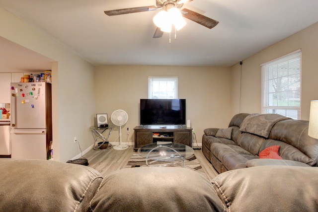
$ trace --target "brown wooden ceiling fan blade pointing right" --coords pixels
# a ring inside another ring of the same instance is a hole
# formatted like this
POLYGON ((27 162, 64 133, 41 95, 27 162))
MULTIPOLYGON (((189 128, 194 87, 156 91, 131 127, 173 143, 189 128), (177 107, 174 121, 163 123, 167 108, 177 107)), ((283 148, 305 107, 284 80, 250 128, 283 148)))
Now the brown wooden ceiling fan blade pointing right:
POLYGON ((195 11, 192 11, 190 9, 184 8, 181 10, 181 13, 183 17, 188 18, 189 20, 192 20, 194 22, 197 22, 201 24, 202 26, 208 27, 209 29, 212 29, 216 25, 218 25, 219 21, 214 20, 212 18, 209 18, 207 16, 201 15, 195 11))

